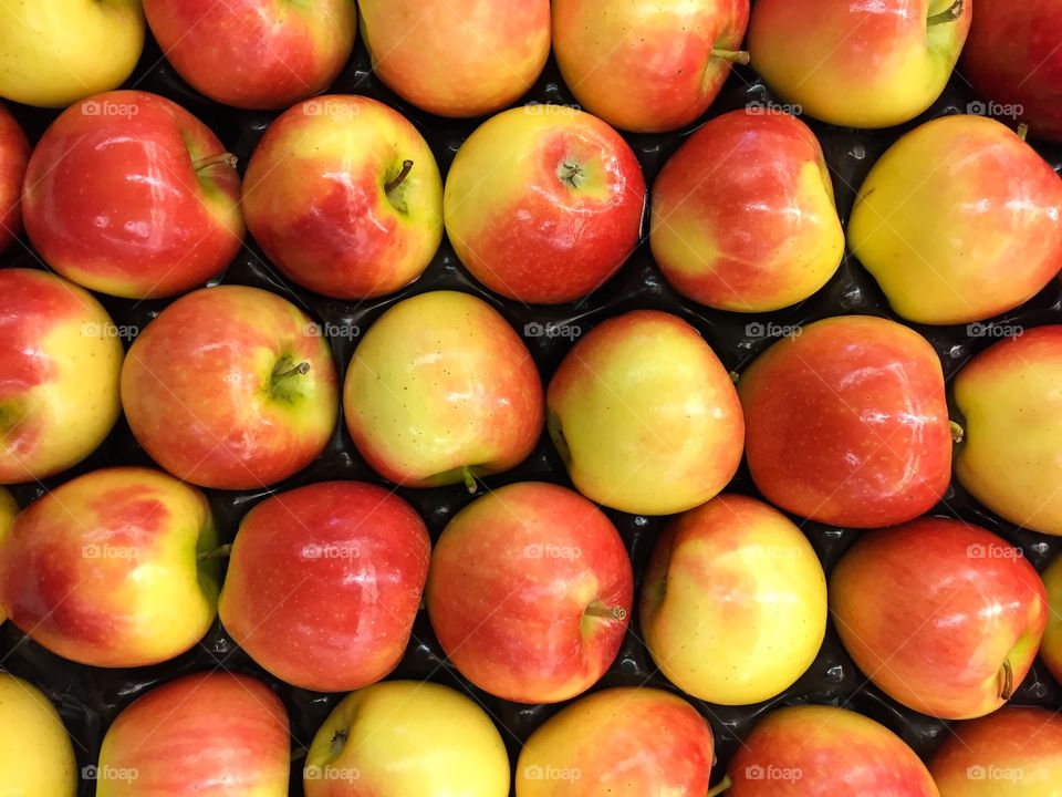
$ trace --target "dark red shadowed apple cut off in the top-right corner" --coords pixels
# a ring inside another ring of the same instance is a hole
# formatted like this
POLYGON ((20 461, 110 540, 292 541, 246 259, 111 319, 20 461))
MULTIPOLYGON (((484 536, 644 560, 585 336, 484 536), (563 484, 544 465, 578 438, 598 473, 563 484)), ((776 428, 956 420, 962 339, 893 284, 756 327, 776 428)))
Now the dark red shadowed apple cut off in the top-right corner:
POLYGON ((977 0, 962 74, 1034 136, 1062 141, 1062 6, 1058 0, 977 0))

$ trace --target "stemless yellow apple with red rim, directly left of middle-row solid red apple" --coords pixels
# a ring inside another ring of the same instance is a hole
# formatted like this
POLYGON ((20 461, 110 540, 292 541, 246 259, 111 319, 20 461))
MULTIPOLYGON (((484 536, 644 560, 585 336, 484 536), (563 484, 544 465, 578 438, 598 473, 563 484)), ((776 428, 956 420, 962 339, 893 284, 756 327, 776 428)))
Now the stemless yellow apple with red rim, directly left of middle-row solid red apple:
POLYGON ((730 375, 677 315, 635 310, 595 327, 546 391, 546 424, 591 500, 634 515, 704 504, 741 462, 730 375))

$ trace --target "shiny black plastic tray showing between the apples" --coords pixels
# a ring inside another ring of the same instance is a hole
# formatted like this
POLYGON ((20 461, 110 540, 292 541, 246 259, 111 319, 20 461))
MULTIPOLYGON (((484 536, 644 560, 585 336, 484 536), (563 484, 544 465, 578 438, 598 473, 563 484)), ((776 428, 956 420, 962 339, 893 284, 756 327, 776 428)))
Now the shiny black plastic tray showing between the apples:
MULTIPOLYGON (((262 132, 277 116, 272 113, 236 111, 205 99, 188 87, 176 75, 173 68, 163 59, 158 45, 154 41, 148 42, 139 65, 125 87, 156 92, 187 107, 214 130, 230 152, 239 156, 241 173, 246 168, 248 158, 262 132)), ((461 142, 483 121, 482 118, 467 122, 444 120, 418 111, 399 100, 372 74, 368 68, 368 55, 361 40, 351 63, 347 64, 343 74, 333 85, 331 93, 365 94, 396 107, 409 117, 428 139, 444 175, 461 142)), ((956 74, 952 76, 944 96, 933 108, 918 120, 900 128, 879 132, 855 131, 834 127, 803 117, 822 142, 833 176, 842 220, 847 220, 855 192, 871 165, 900 133, 934 116, 965 113, 968 103, 975 99, 966 81, 959 74, 956 74)), ((707 117, 742 107, 750 102, 771 101, 777 101, 777 97, 771 96, 762 81, 750 69, 739 68, 728 80, 707 117)), ((529 102, 573 102, 571 94, 561 81, 552 58, 544 74, 521 101, 521 104, 529 102)), ((56 115, 55 112, 23 106, 13 106, 12 110, 34 142, 56 115)), ((1004 122, 1007 121, 1004 120, 1004 122)), ((1007 123, 1013 124, 1012 122, 1007 123)), ((690 125, 689 128, 679 133, 666 135, 626 136, 638 155, 649 186, 652 186, 660 166, 697 126, 690 125)), ((1060 170, 1062 146, 1044 145, 1035 139, 1031 139, 1030 143, 1051 163, 1056 172, 1060 170)), ((646 214, 643 224, 644 232, 647 232, 648 229, 647 221, 648 215, 646 214)), ((39 265, 37 257, 27 247, 19 247, 18 245, 12 247, 9 253, 0 260, 2 260, 0 265, 3 266, 32 267, 39 265)), ((847 313, 894 317, 873 278, 851 256, 845 257, 841 269, 825 288, 796 307, 759 315, 710 310, 683 299, 667 286, 659 270, 653 263, 645 238, 620 273, 608 283, 583 301, 556 307, 527 307, 519 302, 501 300, 479 286, 464 270, 447 241, 444 241, 441 249, 425 275, 414 284, 394 296, 366 302, 336 301, 294 287, 264 259, 261 250, 250 237, 248 237, 246 247, 228 271, 221 278, 215 280, 215 282, 218 281, 228 284, 249 284, 266 288, 291 299, 322 324, 356 325, 362 332, 385 309, 402 299, 444 288, 467 291, 486 299, 521 333, 524 333, 527 324, 537 323, 544 327, 550 323, 559 323, 576 327, 585 334, 593 325, 621 312, 636 308, 658 308, 676 313, 694 324, 711 344, 723 364, 738 372, 741 372, 757 354, 772 342, 771 339, 749 334, 747 325, 750 323, 760 322, 764 328, 768 328, 769 324, 780 327, 803 324, 830 315, 847 313)), ((100 298, 114 318, 115 324, 118 327, 135 325, 138 329, 143 329, 167 303, 167 301, 135 302, 108 297, 100 298)), ((1059 280, 1053 280, 1043 292, 1024 307, 995 319, 992 323, 996 324, 993 329, 998 329, 1006 324, 1035 327, 1059 322, 1062 322, 1062 283, 1059 280)), ((974 353, 996 340, 991 334, 971 338, 968 335, 966 327, 915 327, 915 329, 933 343, 940 355, 945 375, 949 383, 959 368, 974 353)), ((570 349, 571 342, 560 337, 543 338, 527 334, 524 334, 524 341, 539 365, 543 382, 548 383, 561 359, 570 349)), ((126 340, 124 342, 128 348, 131 341, 126 340)), ((343 338, 332 340, 332 350, 341 372, 346 369, 355 345, 356 340, 343 338)), ((952 417, 960 420, 955 414, 954 403, 952 417)), ((45 488, 55 487, 72 476, 110 465, 132 464, 149 465, 152 463, 136 444, 123 418, 104 445, 87 460, 73 470, 49 479, 43 485, 27 485, 15 488, 15 496, 20 504, 24 506, 42 495, 45 488)), ((237 531, 240 518, 254 504, 271 493, 327 479, 362 479, 385 484, 358 455, 342 422, 337 423, 331 445, 325 454, 291 479, 271 489, 241 493, 208 491, 221 539, 231 540, 237 531)), ((571 486, 564 467, 548 436, 540 439, 534 453, 520 467, 486 479, 486 485, 488 488, 497 488, 511 482, 531 479, 555 482, 571 486)), ((757 494, 743 464, 727 489, 748 495, 757 494)), ((398 489, 397 491, 410 501, 427 520, 433 540, 438 538, 442 527, 454 514, 472 500, 472 497, 460 485, 428 490, 398 489)), ((482 488, 480 489, 481 494, 482 488)), ((646 560, 665 519, 636 517, 613 510, 606 511, 627 545, 631 559, 634 562, 635 587, 637 588, 641 586, 646 560)), ((1053 556, 1062 550, 1062 538, 1055 539, 1016 529, 1012 525, 991 515, 970 498, 957 482, 952 482, 945 500, 936 507, 933 514, 962 518, 1000 534, 1009 541, 1020 546, 1025 557, 1038 570, 1043 570, 1053 556)), ((794 520, 815 547, 827 575, 845 548, 858 534, 815 522, 802 522, 799 518, 794 518, 794 520)), ((918 562, 912 562, 912 567, 918 567, 918 562)), ((906 600, 906 596, 896 594, 894 600, 906 600)), ((218 623, 215 623, 200 645, 170 662, 137 670, 104 670, 64 661, 31 642, 12 623, 8 622, 0 630, 0 666, 35 683, 59 706, 63 721, 74 737, 79 767, 96 762, 103 735, 111 722, 122 708, 153 686, 177 675, 218 667, 256 675, 270 684, 288 707, 291 720, 292 748, 295 752, 295 760, 292 764, 291 795, 303 794, 302 760, 298 756, 299 752, 309 746, 317 727, 342 697, 341 694, 306 692, 278 681, 257 666, 232 642, 218 623)), ((439 643, 431 632, 427 614, 423 610, 414 625, 413 638, 405 658, 389 677, 437 681, 470 695, 493 717, 509 748, 513 767, 516 767, 521 743, 560 707, 510 703, 477 690, 446 661, 439 643)), ((653 666, 645 645, 641 641, 636 611, 620 655, 607 674, 594 686, 594 690, 621 685, 650 685, 678 692, 653 666)), ((694 705, 707 717, 715 733, 718 760, 712 773, 712 783, 722 777, 726 764, 739 746, 740 739, 748 735, 759 717, 782 705, 829 703, 848 706, 892 728, 923 757, 930 755, 948 734, 946 723, 909 711, 868 684, 866 677, 844 652, 832 624, 827 630, 825 643, 811 669, 791 689, 774 700, 752 706, 726 707, 710 705, 688 696, 687 698, 691 700, 694 705)), ((1012 702, 1021 705, 1035 704, 1060 710, 1062 708, 1062 687, 1051 679, 1038 659, 1032 672, 1022 683, 1012 702)), ((94 793, 94 784, 83 780, 79 797, 90 797, 94 793)))

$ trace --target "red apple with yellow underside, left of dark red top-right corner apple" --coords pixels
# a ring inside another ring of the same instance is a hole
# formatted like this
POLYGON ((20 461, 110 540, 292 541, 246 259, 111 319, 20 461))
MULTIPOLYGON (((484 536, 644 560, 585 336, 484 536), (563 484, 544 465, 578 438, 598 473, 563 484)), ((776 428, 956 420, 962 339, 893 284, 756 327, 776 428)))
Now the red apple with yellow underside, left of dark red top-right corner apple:
POLYGON ((752 68, 815 118, 892 127, 933 105, 951 76, 974 3, 966 0, 952 21, 928 29, 926 22, 952 2, 757 0, 749 21, 752 68))

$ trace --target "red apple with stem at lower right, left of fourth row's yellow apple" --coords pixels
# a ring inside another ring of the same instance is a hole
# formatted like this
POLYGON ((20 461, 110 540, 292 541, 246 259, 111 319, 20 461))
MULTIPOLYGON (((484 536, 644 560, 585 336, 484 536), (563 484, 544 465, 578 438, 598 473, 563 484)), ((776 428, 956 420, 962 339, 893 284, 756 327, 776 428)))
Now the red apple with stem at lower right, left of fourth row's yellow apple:
POLYGON ((623 540, 597 507, 524 482, 447 525, 428 571, 428 617, 473 684, 518 703, 556 703, 593 686, 615 660, 633 578, 623 540))

